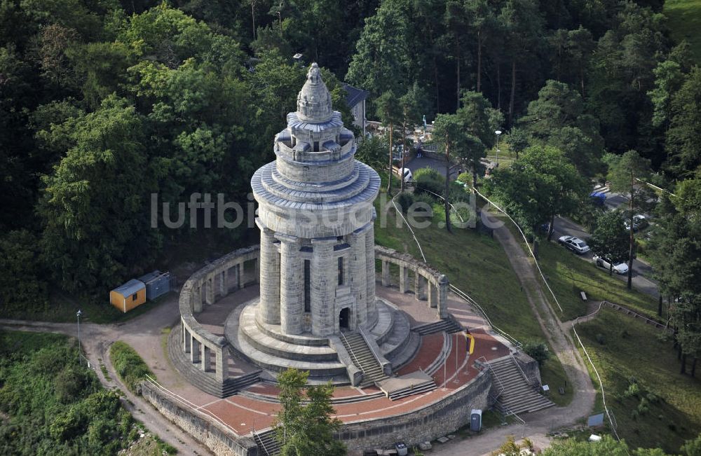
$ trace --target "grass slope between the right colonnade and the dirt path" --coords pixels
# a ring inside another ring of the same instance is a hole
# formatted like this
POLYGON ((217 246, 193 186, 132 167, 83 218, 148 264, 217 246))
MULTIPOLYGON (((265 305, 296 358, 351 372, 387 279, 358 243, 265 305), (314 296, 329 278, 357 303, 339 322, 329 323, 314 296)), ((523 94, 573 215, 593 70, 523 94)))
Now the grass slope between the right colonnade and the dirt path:
MULTIPOLYGON (((421 258, 414 238, 404 224, 396 226, 395 212, 381 214, 376 202, 375 242, 421 258)), ((448 233, 438 223, 444 219, 440 205, 434 207, 434 217, 428 228, 414 228, 428 264, 447 275, 451 284, 468 293, 484 308, 492 322, 517 340, 545 342, 543 331, 533 315, 526 293, 497 240, 469 228, 454 228, 448 233)), ((391 270, 390 270, 391 272, 391 270)), ((393 277, 393 280, 396 280, 393 277)), ((564 405, 572 399, 571 387, 566 386, 566 375, 556 357, 550 357, 540 368, 543 383, 552 385, 555 403, 564 405), (557 387, 565 387, 566 394, 557 394, 557 387)))

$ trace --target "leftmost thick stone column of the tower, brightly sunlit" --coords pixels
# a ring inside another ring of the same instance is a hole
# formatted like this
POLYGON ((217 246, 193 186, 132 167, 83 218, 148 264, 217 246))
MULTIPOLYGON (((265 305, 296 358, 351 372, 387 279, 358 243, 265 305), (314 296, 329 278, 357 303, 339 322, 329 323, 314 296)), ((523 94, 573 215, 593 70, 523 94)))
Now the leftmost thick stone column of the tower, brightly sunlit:
MULTIPOLYGON (((259 219, 256 219, 261 230, 260 252, 260 303, 258 305, 258 318, 263 323, 280 324, 280 265, 278 264, 278 249, 275 247, 275 233, 264 227, 259 219)), ((243 262, 239 263, 238 274, 239 287, 243 280, 243 262)))

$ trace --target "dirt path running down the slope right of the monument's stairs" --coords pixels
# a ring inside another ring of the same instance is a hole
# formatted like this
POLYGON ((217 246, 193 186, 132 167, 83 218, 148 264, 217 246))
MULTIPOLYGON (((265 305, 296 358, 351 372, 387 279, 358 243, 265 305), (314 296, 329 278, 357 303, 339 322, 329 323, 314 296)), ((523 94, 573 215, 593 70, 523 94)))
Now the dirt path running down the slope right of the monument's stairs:
POLYGON ((538 319, 540 328, 543 329, 548 343, 550 343, 557 359, 562 363, 570 384, 573 385, 574 396, 566 407, 548 408, 524 415, 525 426, 523 424, 510 424, 498 429, 489 429, 476 437, 456 439, 444 445, 436 444, 435 450, 433 450, 435 455, 489 455, 510 435, 516 438, 530 438, 536 443, 536 446, 544 448, 550 443, 547 433, 554 429, 576 424, 581 418, 590 415, 594 407, 596 391, 584 361, 580 357, 579 351, 576 350, 569 330, 560 322, 557 315, 554 315, 550 305, 548 305, 529 256, 526 255, 508 228, 502 226, 494 230, 494 236, 502 245, 512 268, 519 277, 526 291, 533 315, 538 319), (470 450, 466 452, 465 448, 470 448, 470 450))

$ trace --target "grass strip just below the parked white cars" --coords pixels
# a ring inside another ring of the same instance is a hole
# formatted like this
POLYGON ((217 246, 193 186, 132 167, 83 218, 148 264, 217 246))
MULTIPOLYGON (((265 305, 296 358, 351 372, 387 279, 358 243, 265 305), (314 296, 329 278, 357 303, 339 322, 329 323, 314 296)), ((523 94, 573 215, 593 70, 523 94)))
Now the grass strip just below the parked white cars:
MULTIPOLYGON (((611 277, 592 261, 583 261, 556 242, 541 242, 538 256, 540 268, 564 310, 559 315, 563 321, 585 315, 586 303, 580 291, 587 293, 589 300, 608 300, 642 314, 657 315, 658 303, 651 296, 627 289, 618 277, 611 277)), ((557 305, 554 308, 557 310, 557 305)))

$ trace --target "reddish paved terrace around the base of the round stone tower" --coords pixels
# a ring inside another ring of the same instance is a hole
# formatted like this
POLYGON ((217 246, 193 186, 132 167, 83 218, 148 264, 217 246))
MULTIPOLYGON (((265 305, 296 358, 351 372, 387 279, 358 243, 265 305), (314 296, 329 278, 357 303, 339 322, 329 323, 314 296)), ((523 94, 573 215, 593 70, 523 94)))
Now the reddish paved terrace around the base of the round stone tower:
MULTIPOLYGON (((218 300, 213 305, 206 306, 205 310, 197 315, 197 319, 213 334, 224 335, 224 321, 229 313, 238 305, 257 296, 257 293, 257 286, 248 286, 218 300)), ((425 301, 416 300, 411 293, 401 294, 395 287, 378 286, 377 296, 389 300, 404 311, 412 326, 435 321, 435 311, 428 308, 425 301)), ((334 392, 336 417, 344 423, 349 423, 421 410, 430 403, 453 394, 458 388, 474 379, 480 372, 475 366, 475 361, 491 361, 509 354, 507 345, 489 331, 484 319, 479 317, 468 303, 451 293, 448 308, 458 322, 468 328, 475 337, 474 352, 468 356, 465 336, 454 333, 449 335, 453 338, 451 352, 443 361, 440 358, 444 357, 441 353, 444 333, 429 334, 422 337, 421 346, 414 358, 397 371, 397 375, 403 375, 420 368, 426 369, 438 361, 440 368, 432 375, 437 389, 392 401, 374 386, 363 389, 351 386, 336 387, 334 392), (351 402, 346 403, 344 400, 344 403, 335 403, 336 399, 341 398, 351 402)), ((150 354, 154 355, 156 352, 157 350, 152 350, 150 354)), ((278 389, 275 385, 259 382, 247 387, 243 392, 219 399, 201 392, 184 380, 172 368, 164 353, 161 353, 160 357, 161 359, 158 359, 159 356, 156 356, 154 360, 154 371, 158 376, 158 382, 183 405, 210 415, 238 436, 250 435, 252 431, 261 431, 273 425, 275 415, 280 410, 280 404, 276 399, 278 389)), ((256 369, 257 366, 238 359, 229 361, 229 372, 232 374, 248 373, 256 369)))

